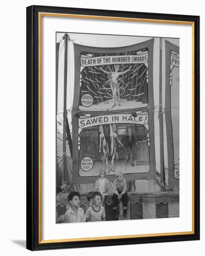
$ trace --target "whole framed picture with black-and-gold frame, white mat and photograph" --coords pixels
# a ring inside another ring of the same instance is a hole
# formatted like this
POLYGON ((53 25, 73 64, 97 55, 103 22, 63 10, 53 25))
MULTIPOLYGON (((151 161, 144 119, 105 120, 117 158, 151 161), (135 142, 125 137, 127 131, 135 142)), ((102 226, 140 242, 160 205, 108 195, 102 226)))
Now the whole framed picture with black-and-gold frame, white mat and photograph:
POLYGON ((199 16, 30 6, 26 33, 27 249, 199 240, 199 16))

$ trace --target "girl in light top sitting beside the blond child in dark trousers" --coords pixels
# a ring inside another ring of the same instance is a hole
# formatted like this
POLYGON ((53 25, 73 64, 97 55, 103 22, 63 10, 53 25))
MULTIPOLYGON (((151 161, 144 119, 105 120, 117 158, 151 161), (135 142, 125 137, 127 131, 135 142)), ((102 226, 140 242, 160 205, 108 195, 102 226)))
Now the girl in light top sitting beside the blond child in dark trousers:
POLYGON ((105 178, 106 171, 100 170, 99 179, 96 180, 96 191, 100 192, 102 195, 102 205, 105 201, 105 196, 108 195, 108 189, 109 189, 109 180, 105 178))

